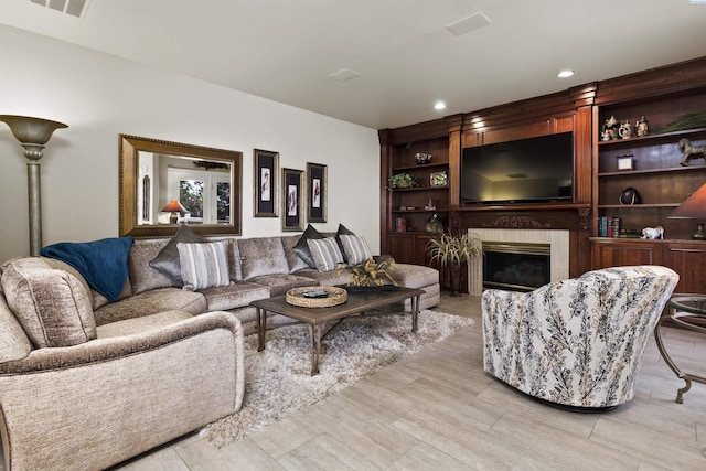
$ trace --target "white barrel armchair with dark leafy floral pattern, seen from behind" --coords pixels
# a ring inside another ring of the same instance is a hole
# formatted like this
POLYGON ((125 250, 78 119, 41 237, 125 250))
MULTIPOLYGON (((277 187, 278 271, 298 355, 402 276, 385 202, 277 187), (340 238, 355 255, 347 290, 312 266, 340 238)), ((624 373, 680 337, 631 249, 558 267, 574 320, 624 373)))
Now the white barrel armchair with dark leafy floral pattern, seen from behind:
POLYGON ((614 267, 531 292, 483 292, 484 370, 530 396, 610 408, 632 399, 648 339, 678 275, 614 267))

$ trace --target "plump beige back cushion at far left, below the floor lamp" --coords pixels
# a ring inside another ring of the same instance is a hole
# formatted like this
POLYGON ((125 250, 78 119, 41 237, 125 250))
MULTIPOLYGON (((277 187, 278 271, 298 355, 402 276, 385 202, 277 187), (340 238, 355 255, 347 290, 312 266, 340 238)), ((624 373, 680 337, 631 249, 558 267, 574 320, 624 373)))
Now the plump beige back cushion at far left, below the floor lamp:
POLYGON ((42 258, 18 258, 3 267, 8 306, 40 349, 71 346, 96 338, 93 303, 81 281, 42 258))

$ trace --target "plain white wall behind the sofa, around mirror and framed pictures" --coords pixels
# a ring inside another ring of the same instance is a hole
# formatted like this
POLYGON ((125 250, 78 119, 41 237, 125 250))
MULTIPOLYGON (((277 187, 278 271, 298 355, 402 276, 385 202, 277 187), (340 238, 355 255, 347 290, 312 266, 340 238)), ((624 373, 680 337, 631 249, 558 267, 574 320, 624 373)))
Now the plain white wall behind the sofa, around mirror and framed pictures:
MULTIPOLYGON (((253 149, 280 168, 329 165, 328 223, 379 250, 377 132, 245 93, 0 25, 0 114, 53 119, 42 159, 43 244, 118 236, 118 135, 238 150, 243 236, 281 234, 253 217, 253 149)), ((29 254, 26 159, 0 122, 0 263, 29 254)))

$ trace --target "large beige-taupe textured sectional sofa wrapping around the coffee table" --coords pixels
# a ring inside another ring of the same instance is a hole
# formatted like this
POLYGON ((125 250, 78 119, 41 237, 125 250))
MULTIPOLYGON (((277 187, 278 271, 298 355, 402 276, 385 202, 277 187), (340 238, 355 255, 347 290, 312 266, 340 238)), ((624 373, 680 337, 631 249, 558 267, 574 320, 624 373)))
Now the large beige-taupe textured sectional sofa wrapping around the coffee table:
MULTIPOLYGON (((256 299, 340 285, 293 250, 300 236, 225 237, 229 282, 199 291, 152 268, 169 239, 136 240, 117 301, 45 257, 0 276, 0 431, 8 470, 104 469, 238 410, 244 334, 256 299)), ((439 302, 438 272, 397 265, 403 286, 439 302)), ((400 306, 400 309, 404 309, 400 306)), ((269 327, 287 318, 274 317, 269 327)))

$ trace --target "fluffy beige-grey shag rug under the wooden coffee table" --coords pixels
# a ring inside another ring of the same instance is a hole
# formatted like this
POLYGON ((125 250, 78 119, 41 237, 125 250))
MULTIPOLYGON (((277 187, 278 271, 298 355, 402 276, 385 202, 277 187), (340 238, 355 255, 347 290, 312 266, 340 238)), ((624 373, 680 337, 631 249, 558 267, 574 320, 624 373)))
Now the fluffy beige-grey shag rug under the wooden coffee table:
POLYGON ((424 310, 411 333, 409 314, 351 318, 322 341, 315 376, 306 324, 268 331, 263 352, 257 351, 257 335, 248 335, 243 407, 204 427, 201 435, 221 448, 472 324, 469 318, 424 310))

